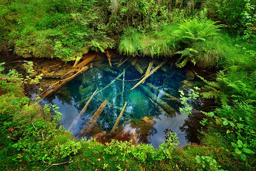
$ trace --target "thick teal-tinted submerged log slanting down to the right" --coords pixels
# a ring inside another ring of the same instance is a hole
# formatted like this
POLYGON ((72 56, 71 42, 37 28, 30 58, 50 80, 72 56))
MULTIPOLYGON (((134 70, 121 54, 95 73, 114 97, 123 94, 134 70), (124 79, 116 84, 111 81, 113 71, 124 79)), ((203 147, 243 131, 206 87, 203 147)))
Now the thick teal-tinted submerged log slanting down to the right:
POLYGON ((164 111, 168 113, 169 116, 174 116, 175 110, 170 107, 165 101, 161 100, 159 97, 157 97, 154 93, 152 93, 147 87, 140 84, 140 88, 149 96, 152 100, 156 101, 157 104, 161 105, 162 108, 164 108, 164 111))

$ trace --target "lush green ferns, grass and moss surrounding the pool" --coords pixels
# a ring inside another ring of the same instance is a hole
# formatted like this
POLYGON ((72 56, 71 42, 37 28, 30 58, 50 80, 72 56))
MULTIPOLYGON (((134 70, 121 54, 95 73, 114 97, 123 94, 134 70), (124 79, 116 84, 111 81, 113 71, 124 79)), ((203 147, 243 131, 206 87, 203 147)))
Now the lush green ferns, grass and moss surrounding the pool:
MULTIPOLYGON (((217 71, 201 78, 217 107, 204 112, 202 145, 178 144, 174 133, 151 145, 73 139, 58 126, 56 106, 24 95, 42 78, 15 70, 0 74, 1 170, 255 170, 256 2, 239 1, 0 1, 0 50, 23 58, 79 60, 88 51, 116 48, 127 55, 178 58, 217 71), (58 164, 60 165, 52 165, 58 164)), ((0 64, 2 73, 3 63, 0 64)), ((184 97, 197 97, 197 92, 184 97)))

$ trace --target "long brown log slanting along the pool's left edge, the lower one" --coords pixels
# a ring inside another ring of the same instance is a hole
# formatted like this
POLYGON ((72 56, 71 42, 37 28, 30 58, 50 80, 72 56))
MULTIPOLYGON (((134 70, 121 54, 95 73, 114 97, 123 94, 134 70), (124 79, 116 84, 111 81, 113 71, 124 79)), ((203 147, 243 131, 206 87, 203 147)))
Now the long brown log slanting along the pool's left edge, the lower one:
POLYGON ((50 95, 52 92, 54 92, 57 89, 59 89, 64 84, 66 84, 70 80, 74 79, 76 76, 78 76, 80 74, 83 74, 83 72, 85 72, 88 69, 89 68, 87 66, 80 68, 80 70, 78 72, 76 72, 76 74, 71 75, 70 77, 68 77, 66 79, 60 80, 59 82, 56 82, 56 83, 52 84, 50 86, 50 88, 46 89, 46 91, 42 92, 39 96, 41 97, 41 99, 44 99, 46 96, 50 95))

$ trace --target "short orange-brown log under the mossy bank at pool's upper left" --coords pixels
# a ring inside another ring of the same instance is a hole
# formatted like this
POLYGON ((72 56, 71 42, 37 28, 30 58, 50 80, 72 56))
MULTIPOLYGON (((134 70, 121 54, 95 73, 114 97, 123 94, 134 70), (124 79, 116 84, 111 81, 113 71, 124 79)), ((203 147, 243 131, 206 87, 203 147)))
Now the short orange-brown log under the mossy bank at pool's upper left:
POLYGON ((84 66, 86 66, 88 63, 92 62, 92 60, 95 59, 96 54, 94 55, 85 55, 82 59, 83 61, 80 62, 79 64, 76 65, 76 67, 72 68, 70 71, 68 71, 66 74, 64 74, 62 76, 62 79, 68 78, 74 74, 76 74, 76 72, 79 72, 81 70, 81 68, 83 68, 84 66))

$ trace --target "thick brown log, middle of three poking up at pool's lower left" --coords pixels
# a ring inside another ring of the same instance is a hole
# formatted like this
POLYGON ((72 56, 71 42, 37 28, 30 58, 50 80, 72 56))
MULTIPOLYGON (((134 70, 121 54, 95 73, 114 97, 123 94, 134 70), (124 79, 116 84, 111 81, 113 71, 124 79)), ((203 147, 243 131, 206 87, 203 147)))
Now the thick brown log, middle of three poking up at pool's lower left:
POLYGON ((103 109, 107 105, 107 100, 103 101, 103 103, 100 105, 100 107, 97 109, 97 111, 92 115, 92 117, 87 121, 86 127, 84 127, 83 131, 79 134, 82 135, 83 133, 90 133, 92 128, 94 128, 94 125, 99 118, 100 114, 102 113, 103 109))

